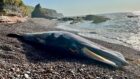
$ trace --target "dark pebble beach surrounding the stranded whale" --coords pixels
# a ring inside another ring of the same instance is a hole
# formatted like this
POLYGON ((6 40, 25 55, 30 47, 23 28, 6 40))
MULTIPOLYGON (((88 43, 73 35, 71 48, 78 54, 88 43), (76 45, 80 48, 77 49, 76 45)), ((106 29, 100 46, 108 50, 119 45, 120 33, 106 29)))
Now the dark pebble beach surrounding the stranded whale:
POLYGON ((39 49, 9 38, 9 33, 31 33, 55 29, 55 20, 29 19, 24 23, 0 25, 0 79, 140 79, 140 51, 122 45, 89 39, 121 52, 129 65, 115 69, 85 59, 41 57, 39 49))

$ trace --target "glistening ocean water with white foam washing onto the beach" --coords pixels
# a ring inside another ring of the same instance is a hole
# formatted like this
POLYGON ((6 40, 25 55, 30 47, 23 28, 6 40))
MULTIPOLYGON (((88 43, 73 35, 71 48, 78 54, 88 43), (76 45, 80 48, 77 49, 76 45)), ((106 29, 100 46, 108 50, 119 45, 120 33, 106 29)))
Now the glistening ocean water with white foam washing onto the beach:
POLYGON ((76 24, 60 23, 57 28, 79 35, 140 50, 140 12, 103 14, 110 20, 94 24, 83 21, 76 24), (128 17, 130 16, 130 17, 128 17), (134 17, 131 17, 134 16, 134 17))

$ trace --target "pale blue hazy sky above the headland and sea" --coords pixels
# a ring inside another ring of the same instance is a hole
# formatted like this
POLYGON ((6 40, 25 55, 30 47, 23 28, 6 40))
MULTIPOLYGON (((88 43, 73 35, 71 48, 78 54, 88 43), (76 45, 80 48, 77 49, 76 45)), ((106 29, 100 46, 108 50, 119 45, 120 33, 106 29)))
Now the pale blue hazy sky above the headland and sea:
POLYGON ((65 16, 140 11, 140 0, 23 0, 25 4, 55 9, 65 16))

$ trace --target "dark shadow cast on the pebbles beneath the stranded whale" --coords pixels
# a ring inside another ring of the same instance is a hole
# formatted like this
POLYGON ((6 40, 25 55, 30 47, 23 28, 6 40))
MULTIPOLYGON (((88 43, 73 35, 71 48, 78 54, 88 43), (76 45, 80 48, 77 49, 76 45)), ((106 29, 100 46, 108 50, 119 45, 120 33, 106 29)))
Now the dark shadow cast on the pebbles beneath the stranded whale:
MULTIPOLYGON (((102 62, 99 62, 96 60, 91 60, 88 58, 82 58, 82 57, 72 56, 72 55, 64 56, 61 53, 57 54, 57 55, 50 54, 51 53, 50 51, 42 50, 40 48, 34 48, 33 46, 28 45, 24 42, 23 42, 22 46, 23 46, 23 50, 26 55, 26 58, 28 59, 29 62, 32 62, 32 63, 38 63, 38 62, 49 63, 49 62, 63 61, 63 62, 80 63, 80 64, 86 64, 86 65, 96 65, 98 67, 108 68, 111 70, 116 69, 105 63, 102 63, 102 62)), ((65 53, 67 53, 67 52, 65 52, 65 53)))

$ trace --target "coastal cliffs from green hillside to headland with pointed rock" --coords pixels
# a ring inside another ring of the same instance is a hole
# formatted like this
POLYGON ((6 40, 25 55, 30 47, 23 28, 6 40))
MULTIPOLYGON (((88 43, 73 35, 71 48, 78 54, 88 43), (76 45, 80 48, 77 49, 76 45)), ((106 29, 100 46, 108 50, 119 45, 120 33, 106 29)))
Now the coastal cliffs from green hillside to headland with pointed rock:
POLYGON ((42 8, 40 4, 36 7, 26 6, 22 0, 1 0, 0 1, 0 16, 32 16, 40 18, 59 18, 63 17, 61 13, 53 9, 42 8))

